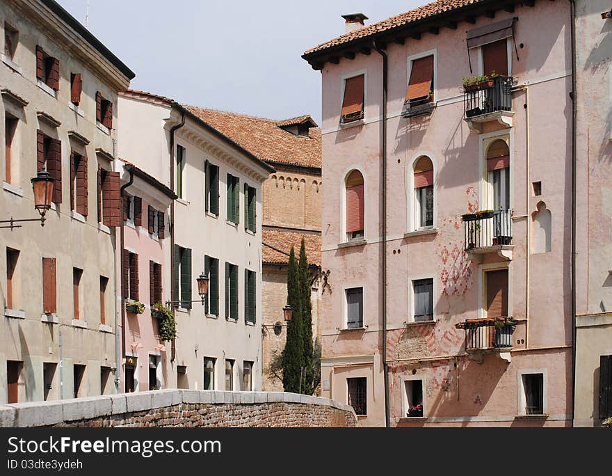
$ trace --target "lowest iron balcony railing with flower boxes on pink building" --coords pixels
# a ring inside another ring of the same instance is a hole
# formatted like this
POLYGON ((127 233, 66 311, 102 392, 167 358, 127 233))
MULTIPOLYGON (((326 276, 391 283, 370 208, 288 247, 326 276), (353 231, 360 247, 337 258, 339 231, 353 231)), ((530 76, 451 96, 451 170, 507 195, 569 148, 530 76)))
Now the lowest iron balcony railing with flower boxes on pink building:
POLYGON ((509 349, 517 326, 512 317, 485 317, 467 319, 456 324, 465 331, 465 351, 509 349))

